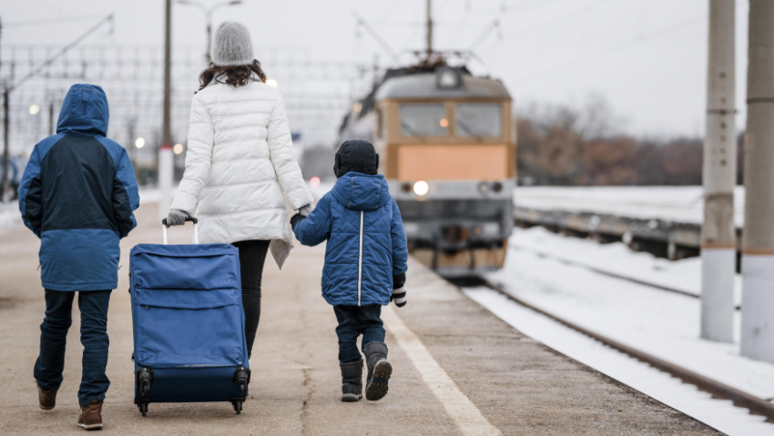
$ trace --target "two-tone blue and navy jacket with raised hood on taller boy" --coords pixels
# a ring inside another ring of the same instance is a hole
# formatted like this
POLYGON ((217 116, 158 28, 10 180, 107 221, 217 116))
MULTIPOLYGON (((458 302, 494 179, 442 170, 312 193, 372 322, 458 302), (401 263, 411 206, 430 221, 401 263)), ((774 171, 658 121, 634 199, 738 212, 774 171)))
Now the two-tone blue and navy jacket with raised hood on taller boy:
POLYGON ((105 137, 107 117, 101 87, 70 87, 56 135, 35 146, 19 185, 46 289, 117 288, 118 242, 137 225, 139 195, 126 150, 105 137))

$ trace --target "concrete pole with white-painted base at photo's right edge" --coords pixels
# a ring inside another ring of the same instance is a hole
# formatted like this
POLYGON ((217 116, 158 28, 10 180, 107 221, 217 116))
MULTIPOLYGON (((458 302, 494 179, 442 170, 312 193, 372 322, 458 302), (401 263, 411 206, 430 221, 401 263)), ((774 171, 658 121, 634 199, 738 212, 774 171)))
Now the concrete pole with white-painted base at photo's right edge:
POLYGON ((750 0, 741 354, 774 363, 774 0, 750 0))

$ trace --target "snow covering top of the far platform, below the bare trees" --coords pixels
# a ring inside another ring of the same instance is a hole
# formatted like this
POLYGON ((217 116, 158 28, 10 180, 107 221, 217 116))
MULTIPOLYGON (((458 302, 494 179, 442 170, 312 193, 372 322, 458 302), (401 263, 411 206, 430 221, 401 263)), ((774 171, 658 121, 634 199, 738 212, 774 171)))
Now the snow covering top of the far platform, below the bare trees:
MULTIPOLYGON (((701 223, 701 187, 518 187, 514 204, 523 208, 596 212, 631 218, 701 223)), ((744 220, 744 187, 734 191, 734 218, 744 220)))

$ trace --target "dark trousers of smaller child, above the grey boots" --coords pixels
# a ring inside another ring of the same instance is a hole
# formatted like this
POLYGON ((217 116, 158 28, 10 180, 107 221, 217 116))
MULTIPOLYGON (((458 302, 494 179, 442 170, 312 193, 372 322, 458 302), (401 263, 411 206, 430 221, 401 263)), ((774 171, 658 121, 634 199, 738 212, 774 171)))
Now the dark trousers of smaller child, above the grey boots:
POLYGON ((333 306, 339 327, 339 361, 341 363, 361 360, 358 350, 358 336, 362 335, 362 345, 373 341, 384 341, 382 327, 382 306, 333 306))

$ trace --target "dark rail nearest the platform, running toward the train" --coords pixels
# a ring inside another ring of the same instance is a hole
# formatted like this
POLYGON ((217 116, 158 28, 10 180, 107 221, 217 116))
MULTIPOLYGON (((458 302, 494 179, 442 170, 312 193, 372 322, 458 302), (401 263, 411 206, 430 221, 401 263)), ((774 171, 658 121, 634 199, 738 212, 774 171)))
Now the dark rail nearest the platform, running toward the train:
POLYGON ((506 297, 507 299, 514 301, 514 303, 520 306, 523 306, 524 308, 534 310, 535 312, 541 315, 544 315, 549 319, 553 319, 556 322, 564 325, 569 329, 575 330, 579 333, 582 333, 588 336, 589 338, 602 342, 603 344, 605 344, 606 346, 612 349, 618 350, 636 360, 647 363, 651 367, 657 370, 666 372, 672 377, 682 380, 685 383, 692 384, 696 386, 698 390, 703 390, 705 392, 708 392, 713 396, 713 398, 732 401, 734 405, 748 409, 752 414, 762 415, 766 417, 766 421, 774 422, 774 404, 772 404, 769 401, 766 401, 754 395, 750 395, 747 392, 732 388, 717 380, 709 379, 708 377, 698 374, 697 372, 694 372, 692 370, 687 370, 686 368, 678 366, 672 362, 659 359, 656 356, 648 354, 647 352, 637 350, 636 348, 630 347, 617 340, 612 340, 610 338, 607 338, 604 335, 596 333, 595 331, 588 330, 584 327, 581 327, 572 321, 558 317, 553 313, 545 311, 544 309, 540 309, 535 305, 527 301, 524 301, 523 299, 514 297, 509 292, 505 291, 502 287, 492 282, 489 282, 488 280, 485 280, 485 279, 474 279, 474 280, 475 280, 475 283, 465 282, 462 285, 460 283, 455 283, 455 284, 457 286, 471 286, 473 284, 477 284, 479 286, 484 286, 486 288, 492 289, 495 292, 498 292, 504 295, 504 297, 506 297))

